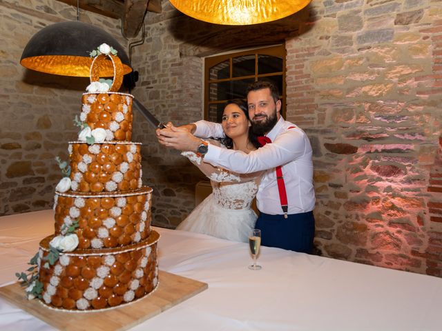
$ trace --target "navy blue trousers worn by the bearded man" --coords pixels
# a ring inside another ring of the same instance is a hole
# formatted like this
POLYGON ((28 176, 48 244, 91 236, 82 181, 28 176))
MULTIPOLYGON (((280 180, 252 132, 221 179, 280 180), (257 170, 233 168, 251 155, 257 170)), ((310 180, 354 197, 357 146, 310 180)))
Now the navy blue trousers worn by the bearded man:
POLYGON ((261 230, 261 245, 311 254, 315 236, 313 212, 269 215, 260 213, 255 225, 261 230))

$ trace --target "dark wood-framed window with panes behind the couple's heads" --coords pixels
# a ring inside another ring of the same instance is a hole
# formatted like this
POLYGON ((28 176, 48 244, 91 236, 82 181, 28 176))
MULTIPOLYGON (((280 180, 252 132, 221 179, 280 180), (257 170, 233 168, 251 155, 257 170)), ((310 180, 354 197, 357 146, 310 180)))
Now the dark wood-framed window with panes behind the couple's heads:
POLYGON ((204 119, 220 122, 224 103, 245 99, 247 86, 258 80, 278 86, 285 115, 284 45, 207 57, 204 68, 204 119))

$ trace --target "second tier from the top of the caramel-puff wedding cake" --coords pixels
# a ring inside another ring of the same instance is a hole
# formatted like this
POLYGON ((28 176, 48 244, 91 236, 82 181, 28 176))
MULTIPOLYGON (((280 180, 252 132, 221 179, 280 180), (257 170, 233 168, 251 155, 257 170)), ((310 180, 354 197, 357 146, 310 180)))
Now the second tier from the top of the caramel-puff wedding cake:
POLYGON ((71 190, 115 192, 142 186, 141 143, 70 142, 71 190))

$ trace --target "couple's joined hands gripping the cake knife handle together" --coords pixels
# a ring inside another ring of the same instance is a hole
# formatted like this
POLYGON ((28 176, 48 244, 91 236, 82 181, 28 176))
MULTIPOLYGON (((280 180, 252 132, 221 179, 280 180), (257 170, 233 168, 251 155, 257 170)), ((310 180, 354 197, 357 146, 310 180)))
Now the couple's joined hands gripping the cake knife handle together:
POLYGON ((166 128, 156 130, 157 139, 163 146, 194 152, 201 144, 201 139, 191 134, 191 132, 195 132, 195 128, 195 124, 175 127, 169 122, 166 128))

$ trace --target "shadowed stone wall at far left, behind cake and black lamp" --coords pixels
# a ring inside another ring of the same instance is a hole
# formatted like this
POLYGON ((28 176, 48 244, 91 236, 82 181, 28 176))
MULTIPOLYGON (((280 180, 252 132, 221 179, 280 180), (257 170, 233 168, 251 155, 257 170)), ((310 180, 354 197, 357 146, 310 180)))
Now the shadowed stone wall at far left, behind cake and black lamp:
MULTIPOLYGON (((54 158, 67 159, 68 141, 88 79, 32 72, 20 66, 23 48, 42 28, 75 21, 73 6, 53 0, 0 1, 0 215, 52 207, 61 178, 54 158)), ((81 10, 80 19, 121 37, 120 21, 81 10)))

